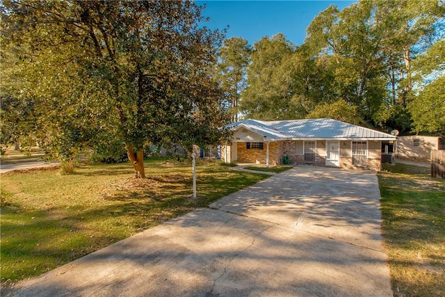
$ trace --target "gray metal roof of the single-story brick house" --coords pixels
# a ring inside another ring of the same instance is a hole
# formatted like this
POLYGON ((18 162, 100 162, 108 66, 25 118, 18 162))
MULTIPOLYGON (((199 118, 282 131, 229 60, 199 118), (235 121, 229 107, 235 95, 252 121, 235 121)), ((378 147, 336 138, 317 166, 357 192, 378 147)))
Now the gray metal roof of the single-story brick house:
POLYGON ((257 134, 268 136, 270 140, 306 138, 396 140, 396 136, 391 134, 348 124, 339 120, 331 120, 330 118, 272 122, 248 119, 227 127, 231 129, 245 127, 257 134))

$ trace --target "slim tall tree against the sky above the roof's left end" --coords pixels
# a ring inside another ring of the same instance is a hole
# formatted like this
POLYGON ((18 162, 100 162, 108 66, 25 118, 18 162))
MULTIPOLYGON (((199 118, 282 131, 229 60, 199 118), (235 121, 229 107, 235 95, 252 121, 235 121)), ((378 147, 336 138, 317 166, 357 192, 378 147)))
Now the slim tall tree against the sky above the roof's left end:
POLYGON ((246 71, 250 61, 250 45, 248 41, 233 37, 224 41, 220 49, 218 63, 218 79, 230 98, 232 121, 238 122, 238 101, 246 86, 246 71))

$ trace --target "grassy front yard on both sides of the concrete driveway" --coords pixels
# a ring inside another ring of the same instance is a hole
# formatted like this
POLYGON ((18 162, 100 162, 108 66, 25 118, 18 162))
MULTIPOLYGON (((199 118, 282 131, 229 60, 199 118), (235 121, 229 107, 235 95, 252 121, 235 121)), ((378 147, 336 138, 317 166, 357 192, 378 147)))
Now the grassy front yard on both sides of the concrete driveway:
MULTIPOLYGON (((191 164, 152 159, 145 168, 144 180, 133 179, 128 163, 83 166, 74 175, 54 168, 1 175, 1 285, 40 275, 268 177, 200 163, 193 200, 191 164)), ((428 168, 403 164, 385 165, 378 180, 394 295, 442 296, 445 181, 430 178, 428 168)))

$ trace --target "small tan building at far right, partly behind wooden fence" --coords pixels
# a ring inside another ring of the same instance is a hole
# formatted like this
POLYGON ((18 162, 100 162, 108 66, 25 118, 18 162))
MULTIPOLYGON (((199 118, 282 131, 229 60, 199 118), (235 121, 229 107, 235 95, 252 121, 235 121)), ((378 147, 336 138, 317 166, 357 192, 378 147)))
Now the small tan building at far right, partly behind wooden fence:
POLYGON ((439 136, 399 136, 396 156, 406 159, 430 159, 431 150, 445 150, 444 139, 439 136))

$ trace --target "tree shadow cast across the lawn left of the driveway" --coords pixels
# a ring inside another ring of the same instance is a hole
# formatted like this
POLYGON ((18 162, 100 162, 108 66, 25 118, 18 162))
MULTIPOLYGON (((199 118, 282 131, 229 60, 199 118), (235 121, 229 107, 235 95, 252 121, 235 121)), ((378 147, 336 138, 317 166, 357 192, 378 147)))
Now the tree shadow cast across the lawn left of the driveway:
MULTIPOLYGON (((131 173, 129 164, 112 164, 80 168, 83 172, 79 175, 99 179, 103 175, 124 175, 127 166, 131 173)), ((9 193, 1 207, 2 285, 40 275, 165 220, 205 207, 263 178, 224 170, 218 166, 202 168, 195 200, 191 199, 191 170, 186 166, 161 168, 150 176, 153 186, 113 190, 102 204, 92 206, 83 202, 70 207, 56 204, 47 209, 26 209, 9 193)))

